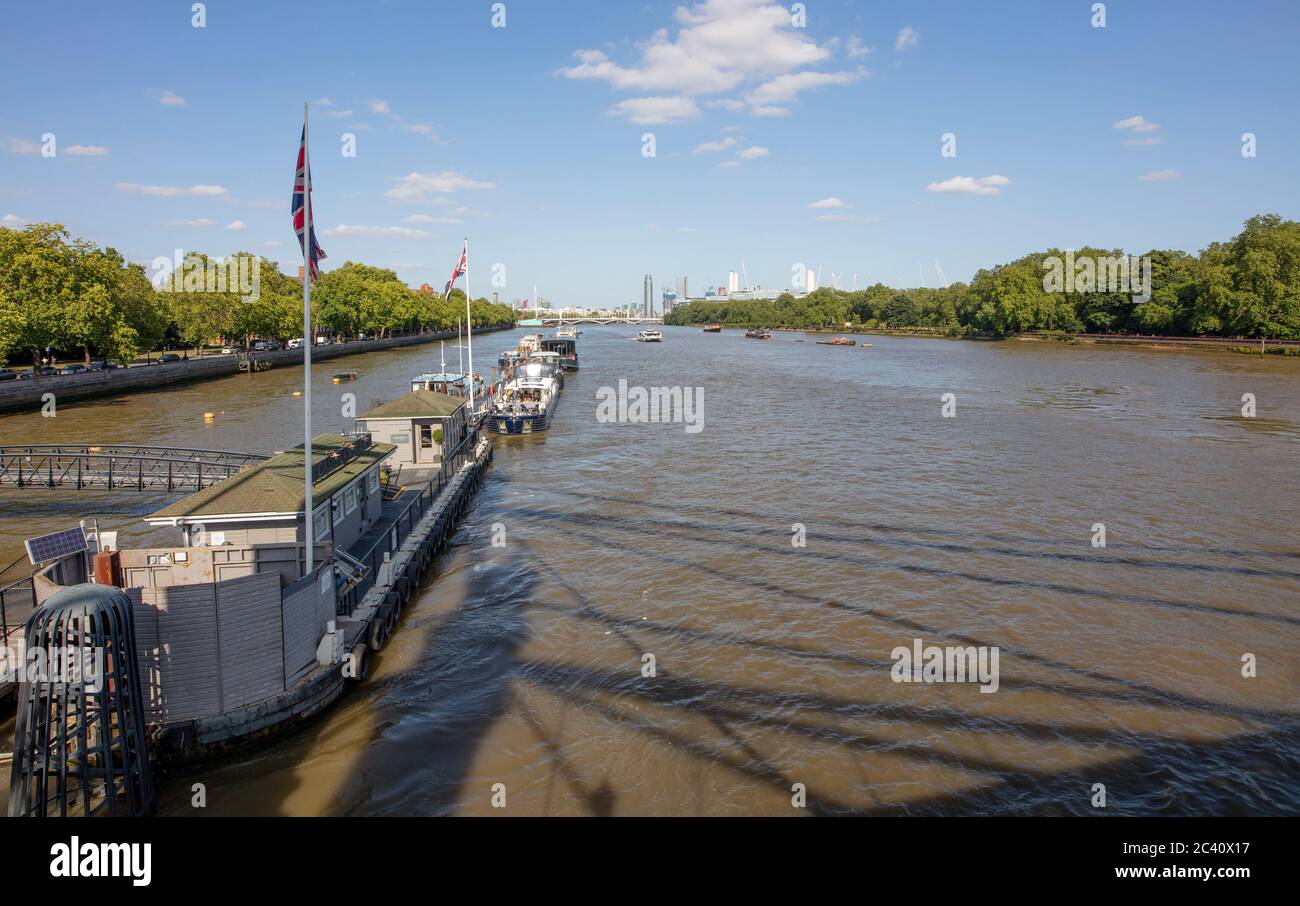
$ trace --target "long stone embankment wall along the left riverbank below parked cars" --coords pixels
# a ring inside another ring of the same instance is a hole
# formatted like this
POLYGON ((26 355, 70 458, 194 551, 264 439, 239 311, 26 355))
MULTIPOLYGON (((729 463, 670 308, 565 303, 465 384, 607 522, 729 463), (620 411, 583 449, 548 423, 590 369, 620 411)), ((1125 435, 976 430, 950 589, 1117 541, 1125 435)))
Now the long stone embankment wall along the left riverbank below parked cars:
MULTIPOLYGON (((474 333, 493 333, 508 328, 482 328, 474 333)), ((385 337, 382 339, 359 339, 351 343, 317 346, 312 350, 312 364, 338 359, 341 356, 377 352, 417 343, 432 343, 438 339, 452 339, 455 330, 442 330, 430 334, 408 337, 385 337)), ((257 361, 268 361, 276 368, 303 364, 303 350, 280 350, 277 352, 255 352, 257 361)), ((140 390, 156 390, 170 383, 207 381, 239 373, 239 357, 234 355, 212 355, 174 361, 166 365, 136 365, 118 368, 110 372, 87 372, 84 374, 49 374, 29 381, 5 381, 0 383, 0 412, 40 408, 46 394, 66 403, 92 396, 116 396, 140 390)))

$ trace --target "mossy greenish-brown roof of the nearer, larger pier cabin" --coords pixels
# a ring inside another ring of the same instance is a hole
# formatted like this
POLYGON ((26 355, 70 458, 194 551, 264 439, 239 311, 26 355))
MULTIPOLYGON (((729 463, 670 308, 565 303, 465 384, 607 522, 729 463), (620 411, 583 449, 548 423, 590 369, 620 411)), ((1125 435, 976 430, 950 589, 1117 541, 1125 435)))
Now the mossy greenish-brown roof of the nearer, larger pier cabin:
MULTIPOLYGON (((342 434, 320 434, 312 438, 312 463, 339 460, 312 485, 312 507, 325 503, 359 478, 372 465, 396 450, 391 443, 372 443, 358 450, 358 438, 342 434)), ((264 463, 233 474, 211 487, 190 494, 146 519, 188 519, 192 516, 230 516, 238 513, 303 511, 303 447, 276 454, 264 463)))

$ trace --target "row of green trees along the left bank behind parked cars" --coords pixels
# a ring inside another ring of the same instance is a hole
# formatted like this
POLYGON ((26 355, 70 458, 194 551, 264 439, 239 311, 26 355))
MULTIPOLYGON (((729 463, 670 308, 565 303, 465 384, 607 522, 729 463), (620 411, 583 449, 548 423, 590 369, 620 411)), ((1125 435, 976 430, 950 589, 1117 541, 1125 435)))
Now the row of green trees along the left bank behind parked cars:
MULTIPOLYGON (((471 312, 474 328, 515 324, 510 305, 486 299, 471 312)), ((337 337, 448 330, 464 316, 462 290, 450 298, 412 290, 386 268, 347 261, 312 285, 315 328, 337 337)), ((151 281, 142 265, 58 224, 0 229, 0 363, 36 363, 47 348, 129 363, 164 346, 302 335, 302 283, 269 259, 194 252, 151 281)))

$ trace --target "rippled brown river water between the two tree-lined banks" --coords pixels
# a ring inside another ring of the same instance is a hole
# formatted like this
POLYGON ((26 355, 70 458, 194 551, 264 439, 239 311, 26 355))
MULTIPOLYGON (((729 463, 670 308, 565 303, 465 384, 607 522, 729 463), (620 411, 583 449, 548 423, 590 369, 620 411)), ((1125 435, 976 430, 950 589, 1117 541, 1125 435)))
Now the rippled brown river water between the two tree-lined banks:
MULTIPOLYGON (((497 438, 369 681, 166 775, 162 814, 1092 814, 1095 784, 1109 814, 1300 814, 1300 360, 634 333, 585 328, 551 430, 497 438), (620 378, 702 387, 702 430, 598 420, 620 378), (916 638, 997 646, 996 693, 894 682, 916 638)), ((317 430, 437 359, 318 368, 317 430)), ((0 416, 0 443, 269 452, 300 441, 299 381, 0 416)), ((0 565, 91 513, 143 542, 164 503, 0 491, 0 565)))

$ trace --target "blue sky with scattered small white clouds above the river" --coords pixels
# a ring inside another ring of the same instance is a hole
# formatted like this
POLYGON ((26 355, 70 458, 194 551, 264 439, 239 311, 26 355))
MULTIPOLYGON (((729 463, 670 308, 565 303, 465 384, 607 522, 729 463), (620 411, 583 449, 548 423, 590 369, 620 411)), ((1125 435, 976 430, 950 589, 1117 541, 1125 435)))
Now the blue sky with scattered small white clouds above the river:
POLYGON ((1292 0, 1114 0, 1105 29, 1091 0, 809 0, 802 29, 767 0, 504 5, 499 29, 485 1, 213 0, 195 29, 188 3, 10 4, 0 217, 138 261, 247 250, 287 270, 320 99, 325 268, 441 287, 469 237, 471 289, 500 264, 506 299, 616 305, 647 272, 656 295, 679 274, 698 292, 742 261, 774 287, 796 263, 933 286, 935 259, 968 279, 1300 213, 1292 0), (34 153, 44 133, 57 157, 34 153))

